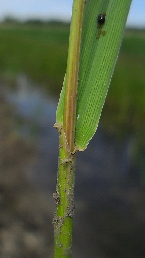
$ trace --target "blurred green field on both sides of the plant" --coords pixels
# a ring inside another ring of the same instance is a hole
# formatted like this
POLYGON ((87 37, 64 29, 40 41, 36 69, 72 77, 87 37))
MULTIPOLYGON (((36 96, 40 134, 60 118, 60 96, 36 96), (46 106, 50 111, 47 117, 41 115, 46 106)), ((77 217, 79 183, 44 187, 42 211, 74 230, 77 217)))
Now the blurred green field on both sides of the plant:
MULTIPOLYGON (((18 73, 60 93, 66 70, 69 23, 17 22, 0 24, 0 77, 13 83, 18 73)), ((136 135, 145 145, 145 30, 126 29, 101 116, 111 134, 136 135)))

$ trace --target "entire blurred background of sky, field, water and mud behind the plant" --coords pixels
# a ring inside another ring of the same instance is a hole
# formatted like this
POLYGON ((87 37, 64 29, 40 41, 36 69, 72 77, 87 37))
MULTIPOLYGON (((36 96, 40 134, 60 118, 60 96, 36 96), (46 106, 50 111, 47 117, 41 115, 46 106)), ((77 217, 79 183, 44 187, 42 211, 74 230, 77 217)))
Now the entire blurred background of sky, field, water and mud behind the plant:
MULTIPOLYGON (((0 257, 53 258, 72 0, 0 10, 0 257)), ((73 258, 145 257, 145 3, 133 0, 97 132, 78 153, 73 258)))

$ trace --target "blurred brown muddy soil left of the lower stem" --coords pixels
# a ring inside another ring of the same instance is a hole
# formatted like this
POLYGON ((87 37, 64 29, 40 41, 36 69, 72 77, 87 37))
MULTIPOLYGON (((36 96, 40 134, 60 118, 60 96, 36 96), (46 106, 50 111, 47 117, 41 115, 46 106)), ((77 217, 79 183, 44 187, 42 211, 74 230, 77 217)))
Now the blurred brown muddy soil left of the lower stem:
POLYGON ((0 257, 53 257, 50 204, 25 177, 37 153, 33 142, 18 136, 12 109, 0 99, 0 257))

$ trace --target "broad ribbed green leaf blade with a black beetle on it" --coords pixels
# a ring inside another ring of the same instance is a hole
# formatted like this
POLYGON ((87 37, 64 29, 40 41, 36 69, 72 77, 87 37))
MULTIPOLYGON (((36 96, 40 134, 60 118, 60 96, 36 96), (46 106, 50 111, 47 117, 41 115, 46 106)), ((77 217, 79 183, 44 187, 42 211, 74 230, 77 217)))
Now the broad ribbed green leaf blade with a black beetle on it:
POLYGON ((85 150, 98 127, 131 4, 131 0, 104 1, 104 5, 102 1, 98 5, 95 2, 86 2, 85 8, 90 5, 90 12, 85 10, 82 33, 76 110, 76 148, 80 151, 85 150), (106 33, 97 39, 97 17, 103 12, 106 20, 102 30, 106 33))

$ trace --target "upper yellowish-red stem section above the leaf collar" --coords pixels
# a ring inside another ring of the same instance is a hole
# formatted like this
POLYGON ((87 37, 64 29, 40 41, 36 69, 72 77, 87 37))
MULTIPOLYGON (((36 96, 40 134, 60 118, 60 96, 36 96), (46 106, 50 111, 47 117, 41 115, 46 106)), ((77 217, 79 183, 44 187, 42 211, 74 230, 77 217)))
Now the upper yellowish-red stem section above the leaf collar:
POLYGON ((63 129, 71 152, 74 151, 76 95, 79 73, 83 9, 84 0, 73 1, 63 111, 63 129))

